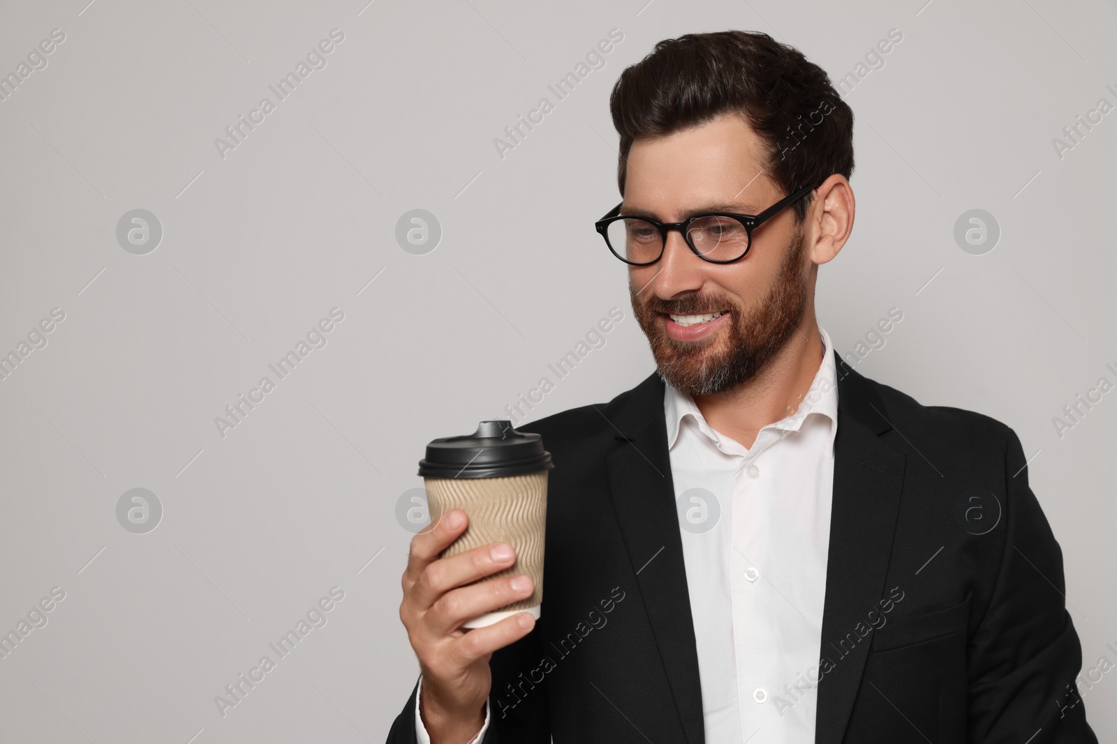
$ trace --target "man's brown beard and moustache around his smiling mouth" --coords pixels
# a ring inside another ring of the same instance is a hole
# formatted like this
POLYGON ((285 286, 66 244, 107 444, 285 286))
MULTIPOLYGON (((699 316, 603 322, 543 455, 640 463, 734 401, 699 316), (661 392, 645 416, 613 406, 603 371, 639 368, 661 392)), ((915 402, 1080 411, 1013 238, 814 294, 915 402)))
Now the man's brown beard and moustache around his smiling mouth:
POLYGON ((805 245, 805 231, 796 225, 775 281, 747 313, 720 294, 691 294, 668 301, 650 292, 641 301, 630 280, 632 312, 648 337, 660 377, 691 397, 724 393, 755 377, 799 329, 806 311, 805 245), (659 315, 697 316, 718 310, 727 310, 728 323, 723 323, 727 328, 696 341, 668 336, 659 315))

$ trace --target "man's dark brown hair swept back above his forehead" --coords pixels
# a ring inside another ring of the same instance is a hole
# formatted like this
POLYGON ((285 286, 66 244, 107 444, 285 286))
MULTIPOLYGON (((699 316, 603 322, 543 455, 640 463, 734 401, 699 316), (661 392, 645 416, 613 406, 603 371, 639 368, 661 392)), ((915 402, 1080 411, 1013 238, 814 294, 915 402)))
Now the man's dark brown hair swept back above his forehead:
MULTIPOLYGON (((853 172, 853 112, 825 70, 767 33, 716 31, 663 39, 621 73, 609 98, 621 136, 617 181, 624 194, 629 151, 663 136, 741 114, 765 146, 765 173, 790 194, 831 174, 853 172), (821 117, 821 120, 819 120, 821 117)), ((795 222, 810 200, 792 207, 795 222)))

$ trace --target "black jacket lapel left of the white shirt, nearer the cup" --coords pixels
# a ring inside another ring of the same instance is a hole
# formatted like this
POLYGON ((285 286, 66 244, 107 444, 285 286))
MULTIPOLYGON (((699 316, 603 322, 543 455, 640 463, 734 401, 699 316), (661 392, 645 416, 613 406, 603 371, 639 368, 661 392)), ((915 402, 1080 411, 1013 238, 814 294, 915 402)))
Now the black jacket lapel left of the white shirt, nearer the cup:
POLYGON ((703 744, 698 648, 675 511, 663 390, 663 380, 652 373, 599 413, 617 438, 617 448, 607 457, 609 486, 640 597, 686 741, 703 744))

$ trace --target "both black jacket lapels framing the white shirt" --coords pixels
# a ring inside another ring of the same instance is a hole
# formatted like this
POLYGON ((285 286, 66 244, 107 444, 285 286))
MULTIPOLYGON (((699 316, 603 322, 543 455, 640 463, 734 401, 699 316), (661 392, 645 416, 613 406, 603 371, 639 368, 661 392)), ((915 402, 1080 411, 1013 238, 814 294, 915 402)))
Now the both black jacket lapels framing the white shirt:
MULTIPOLYGON (((885 595, 905 457, 884 443, 888 412, 877 383, 837 354, 838 431, 822 655, 832 661, 819 684, 818 744, 838 744, 868 658, 868 642, 843 657, 830 651, 863 622, 885 595)), ((618 446, 607 455, 613 508, 689 744, 705 741, 698 651, 687 591, 663 412, 665 383, 652 373, 599 413, 618 446)))

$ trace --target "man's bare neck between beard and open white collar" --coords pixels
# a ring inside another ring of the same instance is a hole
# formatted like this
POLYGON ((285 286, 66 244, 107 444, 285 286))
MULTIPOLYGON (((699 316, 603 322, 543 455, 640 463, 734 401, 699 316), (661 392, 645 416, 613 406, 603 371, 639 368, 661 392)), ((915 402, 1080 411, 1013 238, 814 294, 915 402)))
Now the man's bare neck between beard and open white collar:
POLYGON ((715 431, 752 447, 762 428, 799 409, 822 365, 822 355, 814 313, 806 313, 791 339, 755 377, 725 393, 696 396, 695 405, 715 431))

